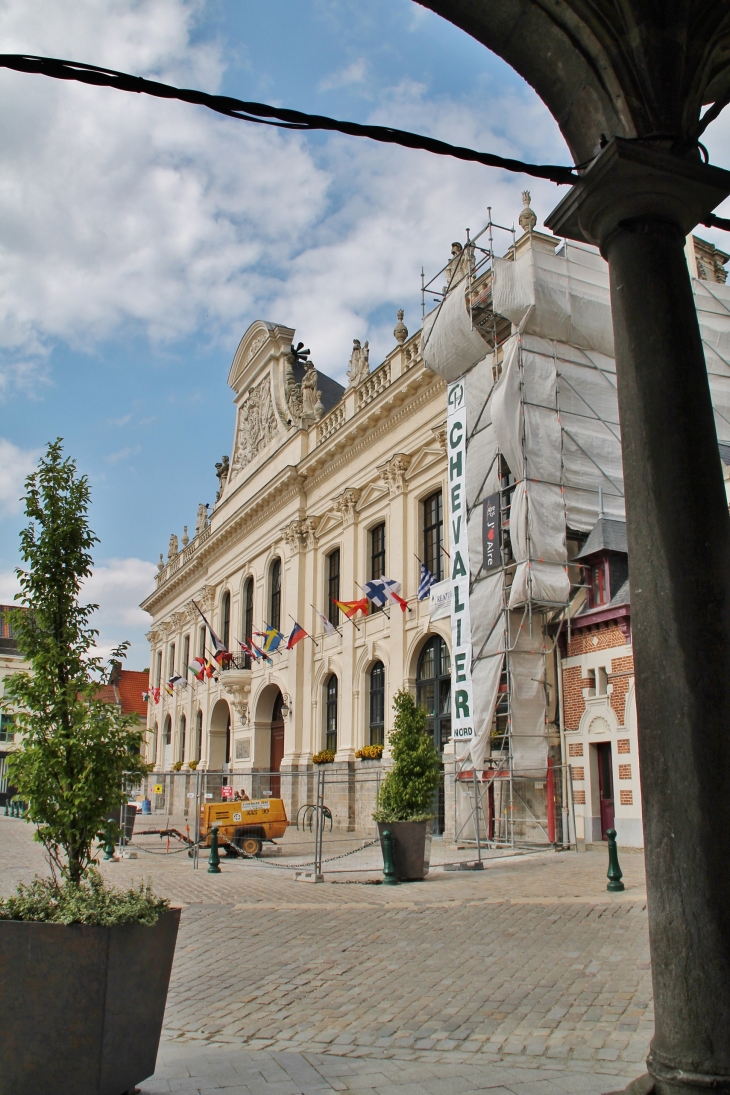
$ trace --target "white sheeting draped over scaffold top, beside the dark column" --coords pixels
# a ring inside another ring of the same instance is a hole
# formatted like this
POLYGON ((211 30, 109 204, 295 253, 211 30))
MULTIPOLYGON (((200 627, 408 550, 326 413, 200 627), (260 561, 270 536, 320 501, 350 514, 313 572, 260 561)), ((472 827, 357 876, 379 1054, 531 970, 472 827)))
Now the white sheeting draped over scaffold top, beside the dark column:
POLYGON ((613 356, 607 267, 594 252, 569 245, 560 254, 533 242, 517 260, 494 261, 494 309, 525 334, 613 356), (598 260, 598 262, 596 262, 598 260), (529 309, 532 308, 530 315, 529 309))

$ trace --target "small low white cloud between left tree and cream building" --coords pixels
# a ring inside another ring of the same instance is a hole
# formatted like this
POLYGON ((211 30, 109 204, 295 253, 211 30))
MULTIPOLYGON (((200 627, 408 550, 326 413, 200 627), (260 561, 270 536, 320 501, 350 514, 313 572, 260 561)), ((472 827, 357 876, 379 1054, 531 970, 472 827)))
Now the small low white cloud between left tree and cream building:
POLYGON ((126 666, 143 669, 149 662, 144 632, 151 619, 139 603, 150 595, 157 567, 142 558, 109 558, 94 567, 84 583, 82 601, 99 604, 92 625, 97 629, 99 654, 107 658, 124 639, 131 642, 126 666))

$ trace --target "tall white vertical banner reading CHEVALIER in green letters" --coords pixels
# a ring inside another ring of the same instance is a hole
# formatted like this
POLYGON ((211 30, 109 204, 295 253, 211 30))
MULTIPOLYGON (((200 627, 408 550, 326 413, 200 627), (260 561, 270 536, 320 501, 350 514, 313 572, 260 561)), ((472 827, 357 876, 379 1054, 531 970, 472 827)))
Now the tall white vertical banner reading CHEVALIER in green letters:
POLYGON ((466 397, 464 380, 448 390, 449 519, 451 521, 451 736, 474 737, 472 624, 468 612, 466 533, 466 397))

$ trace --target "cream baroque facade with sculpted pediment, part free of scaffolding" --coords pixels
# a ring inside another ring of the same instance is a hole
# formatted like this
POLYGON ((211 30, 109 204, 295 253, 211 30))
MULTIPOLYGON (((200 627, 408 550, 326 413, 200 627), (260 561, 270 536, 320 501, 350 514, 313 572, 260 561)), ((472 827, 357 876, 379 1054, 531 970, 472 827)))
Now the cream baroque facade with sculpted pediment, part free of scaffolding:
POLYGON ((436 695, 437 744, 448 740, 449 619, 432 621, 429 600, 417 599, 419 558, 442 577, 445 383, 424 366, 402 313, 394 337, 372 371, 356 341, 343 389, 302 344, 294 349, 293 330, 257 321, 243 336, 219 497, 210 515, 198 507, 192 540, 171 537, 142 604, 152 615, 150 683, 160 688, 148 714, 158 771, 190 761, 300 771, 324 748, 335 770, 351 769, 359 748, 387 745, 393 695, 404 684, 416 691, 419 675, 424 695, 436 695), (408 610, 374 611, 355 626, 333 598, 360 598, 381 574, 402 584, 408 610), (311 638, 289 650, 282 643, 271 665, 241 655, 197 681, 187 665, 210 646, 196 606, 232 652, 269 624, 289 634, 298 622, 311 638), (174 675, 186 683, 170 695, 174 675))

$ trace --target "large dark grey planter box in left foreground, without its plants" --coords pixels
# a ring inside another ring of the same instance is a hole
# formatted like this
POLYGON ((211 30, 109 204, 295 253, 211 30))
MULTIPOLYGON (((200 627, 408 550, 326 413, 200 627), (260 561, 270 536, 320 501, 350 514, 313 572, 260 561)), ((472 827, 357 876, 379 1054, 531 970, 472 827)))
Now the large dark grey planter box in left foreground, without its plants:
POLYGON ((124 1095, 154 1072, 179 909, 152 927, 0 921, 0 1095, 124 1095))

